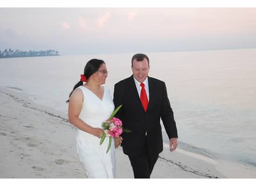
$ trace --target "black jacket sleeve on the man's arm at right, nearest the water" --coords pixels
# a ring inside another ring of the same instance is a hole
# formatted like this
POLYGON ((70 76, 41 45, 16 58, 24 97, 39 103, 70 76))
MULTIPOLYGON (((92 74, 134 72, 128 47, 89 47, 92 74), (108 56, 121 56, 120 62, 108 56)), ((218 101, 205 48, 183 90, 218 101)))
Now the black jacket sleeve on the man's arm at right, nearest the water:
POLYGON ((163 122, 163 126, 168 135, 168 138, 178 138, 177 127, 174 120, 173 110, 171 108, 167 89, 165 83, 163 83, 163 100, 162 100, 162 110, 161 110, 161 119, 163 122))

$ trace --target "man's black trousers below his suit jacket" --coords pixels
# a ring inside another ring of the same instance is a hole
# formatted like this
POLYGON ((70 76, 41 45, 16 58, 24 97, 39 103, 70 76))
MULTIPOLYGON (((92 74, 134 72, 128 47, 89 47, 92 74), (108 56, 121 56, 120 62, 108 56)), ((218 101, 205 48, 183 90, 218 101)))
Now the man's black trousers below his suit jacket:
POLYGON ((150 178, 155 162, 159 154, 150 155, 148 153, 147 139, 143 146, 143 151, 137 156, 128 156, 133 167, 134 178, 150 178))

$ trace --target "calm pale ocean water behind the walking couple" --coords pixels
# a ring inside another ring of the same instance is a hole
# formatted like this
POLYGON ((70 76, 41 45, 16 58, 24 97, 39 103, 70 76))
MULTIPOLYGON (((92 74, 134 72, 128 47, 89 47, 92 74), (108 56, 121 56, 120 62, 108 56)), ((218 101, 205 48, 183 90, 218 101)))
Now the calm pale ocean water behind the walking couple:
MULTIPOLYGON (((256 170, 256 49, 147 54, 149 76, 166 83, 179 148, 256 170)), ((132 74, 132 55, 0 59, 0 86, 67 113, 65 101, 88 60, 106 62, 113 94, 114 84, 132 74)))

